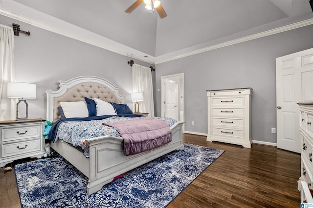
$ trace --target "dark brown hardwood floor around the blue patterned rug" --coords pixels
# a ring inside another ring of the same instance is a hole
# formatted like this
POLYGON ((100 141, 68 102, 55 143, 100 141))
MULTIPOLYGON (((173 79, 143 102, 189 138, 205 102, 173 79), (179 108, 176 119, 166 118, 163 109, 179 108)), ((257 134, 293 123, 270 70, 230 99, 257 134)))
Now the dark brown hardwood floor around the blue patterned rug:
MULTIPOLYGON (((251 149, 205 136, 184 134, 184 142, 224 150, 168 208, 298 208, 300 154, 253 144, 251 149)), ((0 207, 20 208, 14 169, 0 168, 0 207)))

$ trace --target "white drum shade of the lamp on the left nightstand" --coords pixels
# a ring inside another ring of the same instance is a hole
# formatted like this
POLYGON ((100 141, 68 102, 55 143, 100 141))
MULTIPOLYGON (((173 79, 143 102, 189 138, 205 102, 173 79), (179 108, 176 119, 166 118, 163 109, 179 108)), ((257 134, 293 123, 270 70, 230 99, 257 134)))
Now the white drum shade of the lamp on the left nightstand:
POLYGON ((8 82, 7 96, 9 98, 36 98, 36 85, 24 82, 8 82))

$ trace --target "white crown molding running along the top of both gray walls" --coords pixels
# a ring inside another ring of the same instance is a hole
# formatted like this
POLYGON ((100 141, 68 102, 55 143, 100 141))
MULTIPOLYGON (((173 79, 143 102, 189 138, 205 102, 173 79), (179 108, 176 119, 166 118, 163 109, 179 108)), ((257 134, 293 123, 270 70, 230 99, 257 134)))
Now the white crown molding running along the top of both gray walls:
POLYGON ((55 17, 49 16, 45 13, 42 13, 38 10, 27 7, 13 0, 0 0, 0 15, 3 15, 12 19, 16 19, 16 20, 25 22, 27 24, 45 29, 47 31, 56 33, 56 34, 66 36, 68 38, 73 38, 73 39, 106 49, 108 51, 112 51, 114 53, 117 53, 126 57, 131 57, 131 58, 134 58, 134 59, 137 59, 137 60, 149 63, 149 64, 154 64, 154 65, 176 60, 176 59, 183 58, 183 57, 189 57, 192 55, 215 50, 218 48, 223 48, 226 46, 242 43, 242 42, 253 40, 256 38, 263 38, 266 36, 274 35, 277 33, 285 32, 288 30, 293 30, 299 27, 304 27, 304 26, 313 24, 313 18, 312 18, 312 19, 307 19, 307 20, 303 20, 300 22, 296 22, 293 24, 289 24, 286 26, 278 27, 278 28, 268 30, 265 32, 246 36, 243 38, 237 38, 237 39, 233 39, 233 40, 226 41, 223 43, 219 43, 219 44, 215 44, 215 45, 211 45, 207 47, 202 47, 196 50, 191 49, 190 51, 188 51, 188 48, 187 48, 187 49, 183 49, 180 51, 175 51, 172 53, 161 55, 158 57, 152 57, 152 56, 145 57, 147 56, 147 54, 141 51, 135 50, 134 48, 128 47, 126 45, 113 41, 109 38, 105 38, 98 34, 92 33, 86 29, 70 24, 61 19, 57 19, 55 17), (182 51, 187 51, 187 52, 182 52, 182 51))

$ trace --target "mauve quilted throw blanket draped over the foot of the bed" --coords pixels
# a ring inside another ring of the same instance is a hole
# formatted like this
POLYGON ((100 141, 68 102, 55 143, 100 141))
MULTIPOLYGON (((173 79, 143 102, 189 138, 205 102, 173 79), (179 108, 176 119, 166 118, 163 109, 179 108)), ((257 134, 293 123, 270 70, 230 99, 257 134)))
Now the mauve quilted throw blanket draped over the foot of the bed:
POLYGON ((114 127, 121 134, 126 156, 152 150, 172 141, 171 128, 164 120, 133 119, 103 125, 114 127))

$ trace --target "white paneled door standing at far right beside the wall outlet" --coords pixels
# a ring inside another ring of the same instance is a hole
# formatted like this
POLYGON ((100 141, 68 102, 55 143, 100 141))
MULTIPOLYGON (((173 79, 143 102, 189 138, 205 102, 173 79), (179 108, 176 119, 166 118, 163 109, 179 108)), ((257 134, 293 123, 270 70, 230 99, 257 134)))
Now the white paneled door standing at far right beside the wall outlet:
POLYGON ((313 102, 313 48, 276 58, 277 148, 300 153, 298 102, 313 102))

